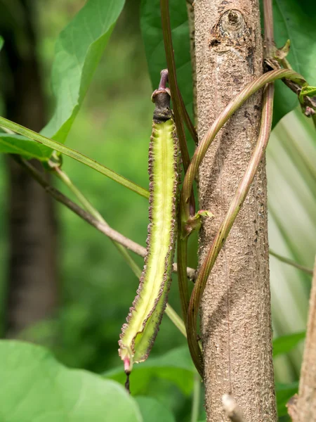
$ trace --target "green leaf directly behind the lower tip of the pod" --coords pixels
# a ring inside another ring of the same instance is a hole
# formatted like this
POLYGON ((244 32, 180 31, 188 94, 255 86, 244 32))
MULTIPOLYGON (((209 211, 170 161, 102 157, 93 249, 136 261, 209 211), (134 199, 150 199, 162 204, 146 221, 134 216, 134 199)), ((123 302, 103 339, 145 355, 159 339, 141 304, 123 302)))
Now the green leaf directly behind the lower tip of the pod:
MULTIPOLYGON (((178 347, 161 357, 150 357, 142 364, 135 364, 130 376, 131 393, 145 394, 147 385, 153 378, 164 378, 189 395, 193 388, 194 373, 196 371, 187 346, 178 347)), ((121 384, 126 381, 123 365, 106 372, 104 376, 121 384)))

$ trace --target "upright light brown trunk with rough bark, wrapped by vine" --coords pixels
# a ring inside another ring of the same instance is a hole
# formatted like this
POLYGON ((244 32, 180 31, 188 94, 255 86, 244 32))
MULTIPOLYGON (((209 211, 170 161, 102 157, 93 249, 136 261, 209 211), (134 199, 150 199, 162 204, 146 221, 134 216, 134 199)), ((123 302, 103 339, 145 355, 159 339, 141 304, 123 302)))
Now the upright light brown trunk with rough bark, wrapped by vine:
MULTIPOLYGON (((258 0, 196 0, 195 56, 199 139, 246 84, 263 72, 258 0)), ((199 169, 199 207, 215 218, 202 226, 199 262, 249 162, 258 136, 261 93, 235 113, 199 169)), ((211 273, 202 300, 206 414, 228 421, 231 394, 246 421, 277 421, 272 366, 265 162, 211 273)))

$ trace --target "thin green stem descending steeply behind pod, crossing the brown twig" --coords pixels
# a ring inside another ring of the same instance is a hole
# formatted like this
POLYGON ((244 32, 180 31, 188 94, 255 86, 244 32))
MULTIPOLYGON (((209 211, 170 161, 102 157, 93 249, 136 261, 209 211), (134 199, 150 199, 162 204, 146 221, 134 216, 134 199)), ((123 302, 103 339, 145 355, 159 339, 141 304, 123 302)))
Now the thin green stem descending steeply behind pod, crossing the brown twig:
MULTIPOLYGON (((98 210, 96 210, 96 208, 93 207, 93 205, 90 203, 90 201, 77 188, 77 186, 75 186, 72 183, 72 181, 70 180, 70 177, 68 177, 68 175, 60 169, 60 167, 55 167, 53 173, 67 186, 67 188, 70 189, 70 191, 72 191, 72 193, 74 193, 74 196, 77 197, 77 199, 79 200, 81 205, 84 208, 86 208, 86 210, 91 215, 93 215, 93 217, 95 219, 97 219, 100 223, 108 226, 107 222, 105 222, 105 219, 102 217, 102 215, 100 215, 100 212, 98 212, 98 210)), ((115 241, 112 241, 112 243, 115 245, 117 250, 119 250, 122 257, 124 257, 124 260, 126 261, 126 263, 129 265, 129 267, 131 268, 133 273, 139 279, 141 274, 142 274, 142 270, 140 269, 140 267, 138 267, 138 264, 136 264, 136 262, 129 255, 129 252, 127 252, 127 250, 124 248, 124 246, 120 245, 119 243, 117 243, 115 241)), ((182 319, 180 319, 180 316, 176 313, 176 311, 173 309, 173 307, 171 307, 171 305, 169 305, 169 304, 166 305, 166 315, 169 316, 169 319, 171 319, 171 321, 176 326, 176 328, 178 328, 180 333, 182 333, 186 338, 187 333, 185 331, 185 324, 182 321, 182 319)))

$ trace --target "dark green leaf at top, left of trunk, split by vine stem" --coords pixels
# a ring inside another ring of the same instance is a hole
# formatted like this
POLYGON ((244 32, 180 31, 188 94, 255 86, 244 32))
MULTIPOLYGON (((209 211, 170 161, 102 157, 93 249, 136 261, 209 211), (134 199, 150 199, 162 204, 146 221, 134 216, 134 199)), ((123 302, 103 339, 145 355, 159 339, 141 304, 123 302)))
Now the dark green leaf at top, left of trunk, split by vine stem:
MULTIPOLYGON (((140 7, 140 26, 154 89, 158 87, 160 71, 166 68, 159 5, 159 0, 143 0, 140 7)), ((192 68, 187 6, 183 0, 173 0, 169 2, 169 8, 178 86, 192 117, 192 68)))

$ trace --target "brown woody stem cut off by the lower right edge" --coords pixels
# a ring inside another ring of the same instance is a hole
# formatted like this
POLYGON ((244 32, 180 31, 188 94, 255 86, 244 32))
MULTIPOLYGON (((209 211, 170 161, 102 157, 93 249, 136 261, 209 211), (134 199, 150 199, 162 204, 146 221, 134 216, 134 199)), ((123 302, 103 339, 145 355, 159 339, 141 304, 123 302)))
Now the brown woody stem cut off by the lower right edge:
POLYGON ((298 397, 289 404, 294 422, 316 422, 316 260, 298 397))

